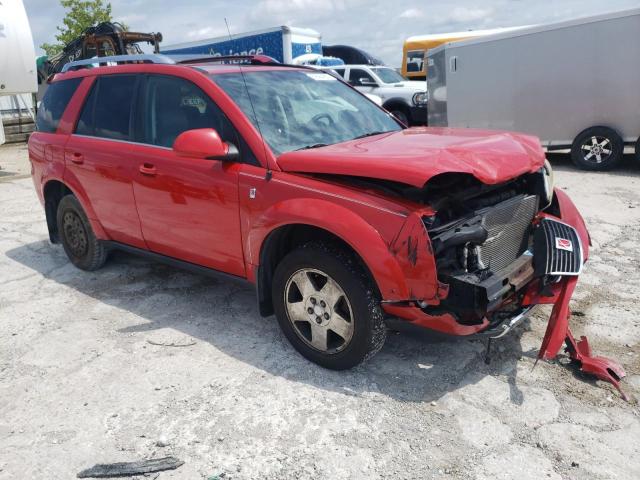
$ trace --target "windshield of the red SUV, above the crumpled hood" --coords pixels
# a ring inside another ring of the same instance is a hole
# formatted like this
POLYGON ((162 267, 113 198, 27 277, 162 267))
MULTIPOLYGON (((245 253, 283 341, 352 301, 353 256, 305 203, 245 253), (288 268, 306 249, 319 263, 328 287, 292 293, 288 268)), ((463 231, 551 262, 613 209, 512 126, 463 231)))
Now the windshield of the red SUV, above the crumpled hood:
POLYGON ((250 70, 244 80, 240 73, 212 78, 276 155, 402 128, 373 102, 324 72, 250 70))

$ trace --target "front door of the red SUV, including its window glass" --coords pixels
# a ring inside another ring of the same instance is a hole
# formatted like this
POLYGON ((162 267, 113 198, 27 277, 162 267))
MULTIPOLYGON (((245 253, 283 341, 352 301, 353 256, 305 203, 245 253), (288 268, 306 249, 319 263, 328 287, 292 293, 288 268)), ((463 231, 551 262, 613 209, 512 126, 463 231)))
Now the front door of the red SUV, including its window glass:
POLYGON ((244 276, 237 163, 185 158, 171 149, 176 137, 214 128, 237 145, 233 126, 192 82, 149 75, 141 95, 140 144, 132 148, 133 190, 150 250, 244 276))

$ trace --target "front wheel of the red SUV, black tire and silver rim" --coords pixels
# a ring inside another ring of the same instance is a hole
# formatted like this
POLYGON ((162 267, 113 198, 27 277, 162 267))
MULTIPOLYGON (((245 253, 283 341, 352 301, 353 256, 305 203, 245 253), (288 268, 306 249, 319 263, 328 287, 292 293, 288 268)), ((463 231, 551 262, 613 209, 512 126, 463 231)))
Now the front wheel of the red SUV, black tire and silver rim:
POLYGON ((272 296, 289 342, 322 367, 352 368, 384 345, 379 294, 357 259, 336 246, 311 242, 286 255, 276 267, 272 296))

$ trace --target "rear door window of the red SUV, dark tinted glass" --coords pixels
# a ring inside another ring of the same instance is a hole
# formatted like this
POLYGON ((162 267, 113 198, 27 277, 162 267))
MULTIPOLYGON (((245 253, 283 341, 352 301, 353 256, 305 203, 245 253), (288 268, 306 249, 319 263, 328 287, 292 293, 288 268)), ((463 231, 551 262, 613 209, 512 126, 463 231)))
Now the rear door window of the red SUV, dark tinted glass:
POLYGON ((135 75, 105 75, 93 84, 76 133, 113 140, 131 140, 131 107, 135 75))

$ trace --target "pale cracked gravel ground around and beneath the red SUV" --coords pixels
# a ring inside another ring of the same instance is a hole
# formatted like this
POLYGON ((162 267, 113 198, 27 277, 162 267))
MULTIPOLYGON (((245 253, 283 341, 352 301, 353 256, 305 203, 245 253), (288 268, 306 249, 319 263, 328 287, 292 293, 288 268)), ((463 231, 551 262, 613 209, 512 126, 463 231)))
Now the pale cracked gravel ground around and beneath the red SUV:
MULTIPOLYGON (((572 327, 638 396, 640 169, 555 165, 594 243, 572 327)), ((250 286, 124 254, 82 272, 48 243, 31 180, 0 182, 0 205, 2 479, 166 455, 185 463, 160 480, 640 478, 637 403, 566 359, 533 368, 548 309, 490 365, 483 340, 402 331, 331 372, 250 286)))

